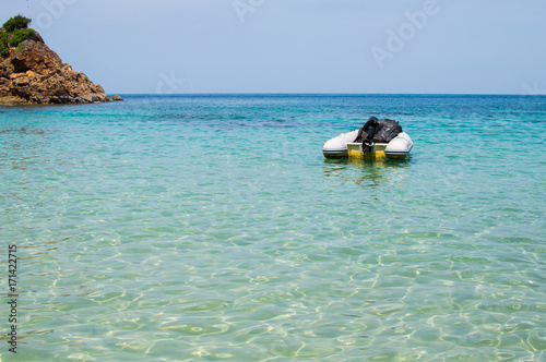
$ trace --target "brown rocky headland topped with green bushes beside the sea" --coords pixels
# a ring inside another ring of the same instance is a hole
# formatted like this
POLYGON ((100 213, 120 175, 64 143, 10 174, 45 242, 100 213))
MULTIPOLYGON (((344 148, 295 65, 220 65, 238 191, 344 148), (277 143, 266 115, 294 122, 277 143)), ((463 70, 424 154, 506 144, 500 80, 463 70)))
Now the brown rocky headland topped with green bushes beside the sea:
POLYGON ((123 100, 108 96, 76 72, 17 15, 0 28, 0 105, 91 104, 123 100))

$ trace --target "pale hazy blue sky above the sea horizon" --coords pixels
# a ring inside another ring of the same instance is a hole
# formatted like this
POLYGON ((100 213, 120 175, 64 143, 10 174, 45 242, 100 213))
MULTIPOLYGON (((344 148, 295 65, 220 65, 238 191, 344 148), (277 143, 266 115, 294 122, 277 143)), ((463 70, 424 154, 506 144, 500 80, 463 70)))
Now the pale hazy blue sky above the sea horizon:
POLYGON ((546 94, 544 0, 0 1, 110 94, 546 94))

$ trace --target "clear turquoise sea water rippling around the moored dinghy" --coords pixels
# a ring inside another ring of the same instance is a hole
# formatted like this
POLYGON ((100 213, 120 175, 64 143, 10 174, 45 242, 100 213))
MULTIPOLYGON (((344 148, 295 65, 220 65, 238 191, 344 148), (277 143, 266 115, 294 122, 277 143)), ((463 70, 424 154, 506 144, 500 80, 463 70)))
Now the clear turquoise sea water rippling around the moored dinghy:
POLYGON ((1 360, 545 360, 545 134, 546 97, 0 108, 1 360), (370 116, 410 159, 323 158, 370 116))

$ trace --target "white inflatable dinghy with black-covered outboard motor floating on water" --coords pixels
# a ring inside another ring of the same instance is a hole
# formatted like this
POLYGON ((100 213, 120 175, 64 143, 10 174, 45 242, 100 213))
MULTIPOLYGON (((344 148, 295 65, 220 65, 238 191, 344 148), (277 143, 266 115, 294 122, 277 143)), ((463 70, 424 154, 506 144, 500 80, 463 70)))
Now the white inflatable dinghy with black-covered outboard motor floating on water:
POLYGON ((324 143, 322 154, 325 158, 405 158, 412 150, 413 142, 407 133, 396 128, 389 129, 391 120, 378 121, 375 117, 359 130, 340 134, 324 143), (381 123, 383 122, 383 123, 381 123), (371 124, 371 125, 369 125, 371 124), (400 130, 400 131, 397 131, 400 130))

